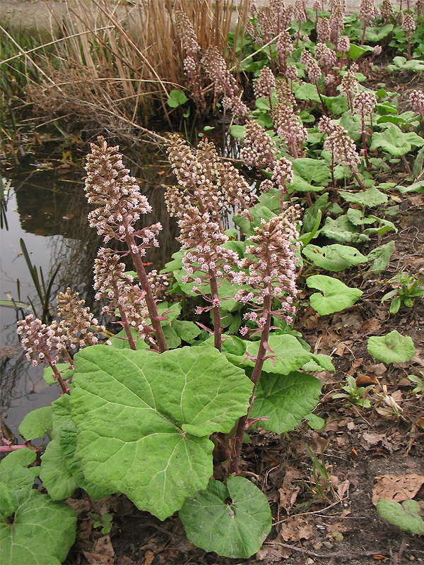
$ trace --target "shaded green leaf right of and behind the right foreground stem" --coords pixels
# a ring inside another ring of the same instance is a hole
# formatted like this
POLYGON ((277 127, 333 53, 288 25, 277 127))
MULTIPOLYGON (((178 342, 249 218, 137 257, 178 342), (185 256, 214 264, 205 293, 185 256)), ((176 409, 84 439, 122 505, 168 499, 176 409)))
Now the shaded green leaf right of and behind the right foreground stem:
POLYGON ((257 427, 283 434, 295 429, 317 406, 321 382, 299 371, 288 375, 262 374, 249 417, 269 417, 257 427))

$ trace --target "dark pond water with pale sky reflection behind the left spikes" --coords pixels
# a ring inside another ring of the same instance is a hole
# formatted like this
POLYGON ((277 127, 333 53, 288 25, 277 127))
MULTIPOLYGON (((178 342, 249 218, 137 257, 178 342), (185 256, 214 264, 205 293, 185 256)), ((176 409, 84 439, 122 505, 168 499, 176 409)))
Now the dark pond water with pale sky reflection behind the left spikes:
MULTIPOLYGON (((151 268, 160 269, 178 249, 177 225, 170 221, 163 201, 162 185, 171 182, 167 179, 171 171, 164 155, 141 157, 142 167, 134 162, 127 166, 153 207, 153 213, 143 218, 143 224, 158 221, 163 224, 160 248, 147 256, 151 268)), ((10 190, 7 229, 4 225, 1 230, 1 299, 18 299, 16 281, 19 280, 20 300, 26 304, 29 300, 33 302, 40 315, 40 299, 20 246, 22 238, 33 266, 42 268, 46 284, 61 263, 53 285, 52 304, 57 291, 69 286, 98 315, 92 276, 102 240, 88 225, 90 208, 83 194, 83 174, 82 163, 69 165, 63 158, 46 159, 43 155, 31 155, 19 167, 4 172, 3 182, 10 182, 10 190)), ((42 365, 33 367, 25 358, 16 334, 16 311, 1 306, 0 314, 0 418, 18 436, 23 417, 58 398, 59 386, 47 386, 42 379, 42 365)), ((18 442, 21 443, 20 438, 18 442)))

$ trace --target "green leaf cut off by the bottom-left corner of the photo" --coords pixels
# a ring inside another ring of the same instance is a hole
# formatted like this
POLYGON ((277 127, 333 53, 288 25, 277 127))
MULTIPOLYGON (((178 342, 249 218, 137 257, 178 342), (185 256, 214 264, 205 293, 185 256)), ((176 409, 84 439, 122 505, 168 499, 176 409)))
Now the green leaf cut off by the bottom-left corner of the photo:
POLYGON ((75 541, 77 513, 31 490, 13 524, 0 522, 2 565, 60 565, 75 541))

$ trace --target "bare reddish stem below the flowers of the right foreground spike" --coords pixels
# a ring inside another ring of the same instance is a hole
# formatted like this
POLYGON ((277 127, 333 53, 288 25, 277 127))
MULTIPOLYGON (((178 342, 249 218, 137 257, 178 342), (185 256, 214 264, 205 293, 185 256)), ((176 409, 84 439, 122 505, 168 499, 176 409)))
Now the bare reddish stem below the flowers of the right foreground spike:
POLYGON ((230 464, 230 474, 235 473, 237 475, 238 472, 238 468, 240 464, 240 456, 242 454, 243 436, 245 435, 245 431, 247 429, 247 420, 249 418, 249 412, 250 410, 252 410, 252 406, 254 403, 254 394, 256 392, 259 383, 262 367, 264 367, 266 351, 267 351, 266 348, 269 338, 269 330, 271 328, 271 296, 264 297, 264 315, 266 315, 266 323, 264 328, 262 329, 261 343, 259 343, 258 356, 254 364, 254 369, 251 377, 251 381, 253 382, 252 396, 250 397, 249 400, 249 408, 247 409, 247 414, 240 418, 237 425, 237 432, 235 432, 234 456, 232 456, 232 460, 230 464))

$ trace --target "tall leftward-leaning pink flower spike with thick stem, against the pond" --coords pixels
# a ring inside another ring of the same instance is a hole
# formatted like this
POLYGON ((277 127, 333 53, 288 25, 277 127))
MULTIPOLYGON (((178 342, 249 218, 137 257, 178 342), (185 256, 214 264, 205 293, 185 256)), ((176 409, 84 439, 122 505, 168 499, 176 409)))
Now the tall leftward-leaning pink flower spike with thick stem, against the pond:
POLYGON ((137 230, 135 225, 142 214, 151 211, 146 196, 140 193, 136 179, 122 163, 118 147, 108 147, 104 138, 100 145, 91 144, 87 156, 86 196, 96 208, 89 213, 90 226, 95 227, 105 243, 110 239, 126 242, 129 254, 139 276, 141 288, 146 292, 146 304, 159 350, 167 350, 165 335, 160 325, 158 307, 148 284, 142 257, 146 249, 158 246, 160 223, 137 230))

